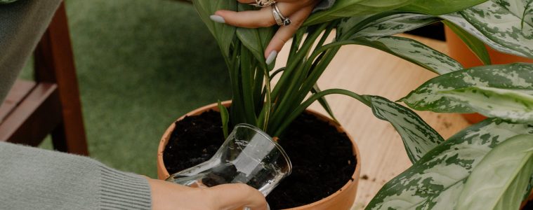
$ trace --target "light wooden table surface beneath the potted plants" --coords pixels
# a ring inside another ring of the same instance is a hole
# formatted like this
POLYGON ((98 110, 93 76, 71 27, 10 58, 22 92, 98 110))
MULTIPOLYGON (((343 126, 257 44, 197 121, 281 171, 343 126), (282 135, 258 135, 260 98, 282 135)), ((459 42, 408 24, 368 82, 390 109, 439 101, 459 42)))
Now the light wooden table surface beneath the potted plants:
MULTIPOLYGON (((441 52, 447 53, 442 41, 418 36, 415 38, 441 52)), ((279 52, 277 67, 284 66, 286 48, 279 52)), ((407 95, 436 74, 403 59, 361 45, 346 45, 320 78, 322 90, 342 88, 357 94, 376 94, 390 100, 407 95)), ((346 96, 329 95, 328 102, 336 118, 357 142, 361 153, 361 179, 353 209, 363 209, 384 183, 411 166, 402 139, 392 125, 379 120, 364 104, 346 96)), ((320 104, 310 109, 325 113, 320 104)), ((459 114, 417 111, 426 122, 447 139, 468 126, 459 114)))

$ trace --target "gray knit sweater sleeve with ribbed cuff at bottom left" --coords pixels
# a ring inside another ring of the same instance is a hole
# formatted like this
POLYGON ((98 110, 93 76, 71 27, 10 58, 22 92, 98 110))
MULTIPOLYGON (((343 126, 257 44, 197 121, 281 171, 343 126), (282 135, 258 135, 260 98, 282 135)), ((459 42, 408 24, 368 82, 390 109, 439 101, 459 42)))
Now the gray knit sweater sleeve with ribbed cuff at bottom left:
POLYGON ((143 176, 78 155, 0 142, 0 209, 151 209, 143 176))

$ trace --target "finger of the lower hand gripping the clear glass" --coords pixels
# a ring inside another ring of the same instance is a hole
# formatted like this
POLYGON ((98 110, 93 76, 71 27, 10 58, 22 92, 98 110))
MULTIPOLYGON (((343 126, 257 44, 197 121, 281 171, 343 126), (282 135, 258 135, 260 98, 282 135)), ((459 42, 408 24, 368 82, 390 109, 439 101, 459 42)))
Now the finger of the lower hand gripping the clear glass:
POLYGON ((249 207, 252 210, 266 210, 265 196, 243 183, 223 184, 207 188, 213 195, 213 209, 237 209, 249 207))

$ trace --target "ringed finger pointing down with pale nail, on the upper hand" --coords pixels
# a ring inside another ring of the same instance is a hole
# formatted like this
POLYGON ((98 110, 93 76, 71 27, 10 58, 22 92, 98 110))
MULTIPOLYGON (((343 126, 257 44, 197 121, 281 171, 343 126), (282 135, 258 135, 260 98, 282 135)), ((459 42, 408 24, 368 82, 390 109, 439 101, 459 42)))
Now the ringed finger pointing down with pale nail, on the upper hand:
POLYGON ((272 55, 277 55, 277 52, 282 50, 283 45, 285 45, 285 43, 287 43, 287 41, 289 41, 289 39, 294 36, 294 34, 301 27, 305 19, 307 19, 308 16, 311 14, 312 8, 312 6, 308 6, 302 8, 301 10, 298 10, 296 13, 294 13, 294 15, 291 15, 291 17, 289 17, 291 19, 291 25, 279 27, 276 34, 272 37, 270 43, 265 49, 265 58, 267 58, 267 63, 270 64, 270 62, 272 62, 272 59, 274 59, 272 55))

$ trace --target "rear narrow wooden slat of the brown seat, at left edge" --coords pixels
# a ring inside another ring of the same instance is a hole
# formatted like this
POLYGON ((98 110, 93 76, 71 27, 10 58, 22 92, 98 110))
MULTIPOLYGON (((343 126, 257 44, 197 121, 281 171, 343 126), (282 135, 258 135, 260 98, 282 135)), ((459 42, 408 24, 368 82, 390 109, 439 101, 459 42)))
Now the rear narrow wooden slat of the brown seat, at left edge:
POLYGON ((0 106, 0 123, 15 109, 30 91, 35 87, 35 82, 27 80, 16 80, 9 91, 6 99, 0 106))

